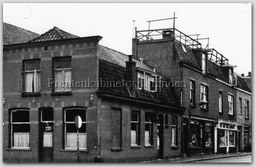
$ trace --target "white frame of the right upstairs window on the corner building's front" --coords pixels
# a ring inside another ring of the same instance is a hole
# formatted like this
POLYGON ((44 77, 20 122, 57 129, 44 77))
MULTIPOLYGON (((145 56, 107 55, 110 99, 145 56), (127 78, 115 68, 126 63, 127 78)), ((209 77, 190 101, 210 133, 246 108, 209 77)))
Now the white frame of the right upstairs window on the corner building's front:
MULTIPOLYGON (((62 91, 71 91, 71 85, 68 85, 68 83, 66 83, 66 79, 65 79, 65 72, 67 71, 70 71, 71 73, 71 76, 70 76, 70 79, 72 80, 72 68, 60 68, 60 69, 56 69, 56 61, 58 60, 71 60, 71 58, 66 58, 66 59, 55 59, 54 60, 54 81, 56 82, 56 72, 62 72, 62 80, 63 81, 57 81, 58 83, 55 83, 55 84, 58 84, 60 85, 61 89, 60 90, 57 90, 58 87, 56 87, 54 85, 54 91, 56 92, 62 92, 62 91), (65 86, 61 86, 61 83, 60 82, 64 82, 65 83, 65 86)), ((71 84, 71 81, 69 81, 70 84, 71 84)))

